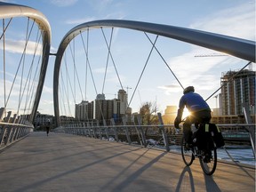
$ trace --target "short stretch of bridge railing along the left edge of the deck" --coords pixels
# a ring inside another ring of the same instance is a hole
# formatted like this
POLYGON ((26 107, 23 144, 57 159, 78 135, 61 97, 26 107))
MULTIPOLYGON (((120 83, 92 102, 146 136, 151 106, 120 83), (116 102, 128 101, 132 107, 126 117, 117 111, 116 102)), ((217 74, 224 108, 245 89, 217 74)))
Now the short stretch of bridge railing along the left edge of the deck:
POLYGON ((0 122, 0 150, 28 136, 33 129, 33 124, 27 121, 22 124, 0 122))

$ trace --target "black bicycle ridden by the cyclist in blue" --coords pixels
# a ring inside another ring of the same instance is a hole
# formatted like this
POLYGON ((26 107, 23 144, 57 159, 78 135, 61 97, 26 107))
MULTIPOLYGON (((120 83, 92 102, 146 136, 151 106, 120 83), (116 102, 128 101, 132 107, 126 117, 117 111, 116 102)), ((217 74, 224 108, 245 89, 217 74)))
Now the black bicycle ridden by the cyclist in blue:
MULTIPOLYGON (((203 132, 205 124, 199 124, 196 132, 203 132)), ((187 166, 193 164, 196 157, 199 158, 202 170, 206 175, 212 175, 217 167, 217 147, 213 140, 214 132, 204 132, 204 138, 201 142, 204 142, 204 147, 202 148, 202 143, 200 147, 198 145, 198 139, 194 138, 193 144, 188 145, 184 138, 184 134, 181 140, 181 156, 184 163, 187 166)))

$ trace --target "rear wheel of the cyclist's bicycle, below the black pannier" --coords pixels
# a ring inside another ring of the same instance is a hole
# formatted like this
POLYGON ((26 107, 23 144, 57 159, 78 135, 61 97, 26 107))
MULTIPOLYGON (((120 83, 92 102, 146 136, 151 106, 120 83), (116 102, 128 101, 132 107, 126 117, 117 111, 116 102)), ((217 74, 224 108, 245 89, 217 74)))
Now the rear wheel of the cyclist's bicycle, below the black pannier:
MULTIPOLYGON (((209 145, 209 143, 208 143, 209 145)), ((206 150, 207 151, 207 150, 206 150)), ((213 172, 215 172, 217 167, 217 148, 215 143, 213 143, 213 148, 211 150, 208 150, 211 153, 205 153, 199 157, 200 165, 207 175, 212 175, 213 172)))

